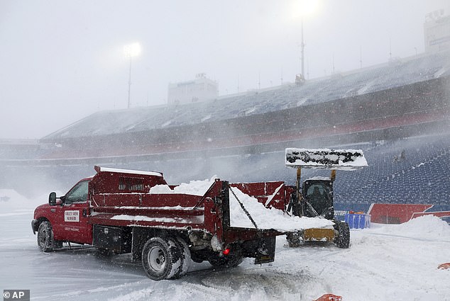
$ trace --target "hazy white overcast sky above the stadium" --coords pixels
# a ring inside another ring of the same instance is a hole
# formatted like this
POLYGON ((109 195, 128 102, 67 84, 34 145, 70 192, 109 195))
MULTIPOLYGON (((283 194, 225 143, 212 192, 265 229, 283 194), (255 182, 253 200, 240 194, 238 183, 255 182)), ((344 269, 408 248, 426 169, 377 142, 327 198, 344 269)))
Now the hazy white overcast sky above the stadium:
MULTIPOLYGON (((204 72, 219 95, 300 73, 299 0, 0 0, 0 139, 40 138, 97 110, 167 101, 204 72)), ((424 51, 426 13, 448 0, 322 0, 304 16, 309 79, 424 51)))

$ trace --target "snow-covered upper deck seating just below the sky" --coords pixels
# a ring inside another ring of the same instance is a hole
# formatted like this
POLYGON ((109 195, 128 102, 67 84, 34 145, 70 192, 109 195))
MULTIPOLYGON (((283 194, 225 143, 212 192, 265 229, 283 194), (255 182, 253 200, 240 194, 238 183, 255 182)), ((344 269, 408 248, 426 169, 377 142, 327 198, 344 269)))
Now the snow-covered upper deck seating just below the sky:
POLYGON ((105 110, 53 132, 43 137, 42 141, 57 142, 79 137, 205 124, 362 96, 449 75, 450 52, 395 59, 375 67, 305 81, 300 85, 288 84, 270 91, 249 91, 244 95, 214 101, 179 106, 105 110))

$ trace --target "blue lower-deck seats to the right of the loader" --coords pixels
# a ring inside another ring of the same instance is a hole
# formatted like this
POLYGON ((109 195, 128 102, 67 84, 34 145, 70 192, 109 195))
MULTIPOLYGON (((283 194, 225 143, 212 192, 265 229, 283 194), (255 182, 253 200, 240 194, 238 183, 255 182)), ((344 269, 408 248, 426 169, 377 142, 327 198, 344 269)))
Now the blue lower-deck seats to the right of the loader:
POLYGON ((339 173, 338 203, 450 204, 450 136, 410 137, 366 149, 369 166, 339 173))

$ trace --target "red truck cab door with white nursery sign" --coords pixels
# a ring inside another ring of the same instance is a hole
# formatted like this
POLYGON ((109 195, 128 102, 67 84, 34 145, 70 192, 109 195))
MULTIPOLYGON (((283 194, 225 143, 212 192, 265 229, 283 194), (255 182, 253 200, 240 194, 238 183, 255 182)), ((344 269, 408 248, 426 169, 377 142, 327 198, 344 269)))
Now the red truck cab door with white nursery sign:
POLYGON ((87 223, 88 185, 89 180, 79 181, 61 198, 64 205, 57 208, 57 221, 53 225, 55 239, 92 244, 92 234, 88 231, 92 226, 87 223))

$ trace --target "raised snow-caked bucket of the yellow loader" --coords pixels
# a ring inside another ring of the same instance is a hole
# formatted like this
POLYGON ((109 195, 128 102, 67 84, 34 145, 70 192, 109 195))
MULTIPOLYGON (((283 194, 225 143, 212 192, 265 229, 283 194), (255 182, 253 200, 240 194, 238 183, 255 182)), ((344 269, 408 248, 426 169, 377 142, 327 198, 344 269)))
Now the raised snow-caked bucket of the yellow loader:
POLYGON ((367 165, 361 149, 286 149, 287 167, 310 169, 361 169, 367 165))

